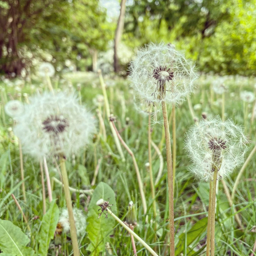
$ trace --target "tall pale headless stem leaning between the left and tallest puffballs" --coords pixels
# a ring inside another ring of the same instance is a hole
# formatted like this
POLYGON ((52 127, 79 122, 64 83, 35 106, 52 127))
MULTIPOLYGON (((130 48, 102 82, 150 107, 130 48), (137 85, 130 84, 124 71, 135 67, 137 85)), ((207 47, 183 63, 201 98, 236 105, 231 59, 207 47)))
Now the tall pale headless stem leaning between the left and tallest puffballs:
MULTIPOLYGON (((107 118, 109 118, 110 117, 110 105, 108 103, 108 95, 107 95, 107 91, 106 91, 106 88, 105 88, 105 83, 104 83, 104 80, 103 80, 103 77, 102 77, 102 74, 101 74, 101 70, 98 71, 98 74, 99 74, 99 77, 100 77, 101 90, 102 90, 102 93, 103 93, 103 96, 104 96, 104 103, 105 103, 107 118)), ((125 161, 124 153, 122 151, 120 142, 119 142, 119 140, 117 138, 117 135, 115 133, 112 122, 110 122, 110 129, 111 129, 111 132, 113 134, 113 137, 114 137, 114 140, 115 140, 115 145, 117 146, 117 150, 119 152, 119 155, 121 156, 122 161, 125 161)))

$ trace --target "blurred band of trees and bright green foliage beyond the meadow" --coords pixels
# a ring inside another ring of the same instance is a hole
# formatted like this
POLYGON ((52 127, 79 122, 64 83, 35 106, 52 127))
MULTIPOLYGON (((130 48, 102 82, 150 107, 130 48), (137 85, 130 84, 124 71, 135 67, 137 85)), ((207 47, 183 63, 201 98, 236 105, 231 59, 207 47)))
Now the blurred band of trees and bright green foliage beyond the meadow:
POLYGON ((126 75, 151 41, 174 44, 204 73, 255 75, 255 0, 0 0, 4 77, 42 61, 59 73, 126 75))

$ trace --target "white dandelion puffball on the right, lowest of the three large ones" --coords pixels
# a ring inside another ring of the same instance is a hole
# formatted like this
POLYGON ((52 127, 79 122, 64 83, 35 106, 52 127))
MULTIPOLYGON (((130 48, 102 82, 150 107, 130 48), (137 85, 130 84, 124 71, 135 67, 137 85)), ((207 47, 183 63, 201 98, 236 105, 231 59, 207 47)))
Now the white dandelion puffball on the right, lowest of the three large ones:
POLYGON ((210 181, 217 168, 218 179, 226 178, 243 164, 248 142, 243 128, 231 119, 202 119, 186 134, 185 149, 193 163, 189 171, 202 181, 210 181))

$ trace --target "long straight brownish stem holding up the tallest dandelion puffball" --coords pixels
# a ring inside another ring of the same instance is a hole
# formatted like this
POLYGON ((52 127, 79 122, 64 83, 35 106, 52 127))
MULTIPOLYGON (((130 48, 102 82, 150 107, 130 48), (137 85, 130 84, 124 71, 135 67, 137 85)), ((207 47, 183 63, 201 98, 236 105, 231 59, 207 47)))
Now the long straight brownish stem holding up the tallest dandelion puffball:
POLYGON ((162 112, 165 128, 165 143, 166 143, 166 160, 167 160, 167 177, 168 177, 168 195, 169 195, 169 222, 170 222, 170 256, 174 256, 174 186, 172 172, 172 149, 171 137, 168 124, 167 108, 165 101, 162 101, 162 112))

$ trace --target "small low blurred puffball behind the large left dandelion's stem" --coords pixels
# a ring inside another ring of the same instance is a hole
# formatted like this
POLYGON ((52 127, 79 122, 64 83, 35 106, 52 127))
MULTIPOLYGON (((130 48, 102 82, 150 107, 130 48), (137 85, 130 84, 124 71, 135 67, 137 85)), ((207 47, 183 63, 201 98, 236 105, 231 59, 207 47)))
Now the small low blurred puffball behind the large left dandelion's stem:
MULTIPOLYGON (((75 228, 77 230, 77 236, 80 237, 86 229, 86 218, 82 210, 73 208, 75 228)), ((70 232, 70 223, 68 218, 68 210, 63 209, 60 215, 59 223, 63 228, 64 233, 70 232)))

